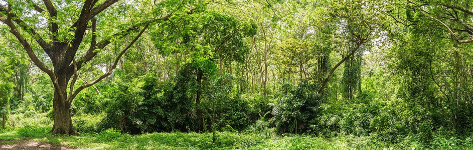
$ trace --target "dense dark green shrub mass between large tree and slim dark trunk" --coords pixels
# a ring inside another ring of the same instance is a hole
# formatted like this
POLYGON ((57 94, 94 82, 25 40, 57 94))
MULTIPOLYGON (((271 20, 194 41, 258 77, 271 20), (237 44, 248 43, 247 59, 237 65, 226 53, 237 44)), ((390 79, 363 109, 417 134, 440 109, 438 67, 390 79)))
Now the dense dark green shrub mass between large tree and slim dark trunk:
MULTIPOLYGON (((181 75, 190 74, 181 72, 181 75)), ((176 78, 176 84, 158 84, 156 78, 144 75, 131 83, 113 85, 111 98, 103 102, 106 115, 102 128, 118 128, 129 133, 152 131, 188 131, 194 127, 190 116, 193 101, 186 94, 188 76, 176 78), (182 85, 184 84, 184 85, 182 85)))

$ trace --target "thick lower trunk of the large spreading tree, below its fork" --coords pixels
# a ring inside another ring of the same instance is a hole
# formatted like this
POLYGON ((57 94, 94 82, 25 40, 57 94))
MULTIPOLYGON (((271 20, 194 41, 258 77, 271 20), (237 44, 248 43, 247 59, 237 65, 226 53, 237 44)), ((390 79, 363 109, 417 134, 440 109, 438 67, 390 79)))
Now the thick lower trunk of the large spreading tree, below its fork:
POLYGON ((74 126, 72 125, 71 105, 68 102, 62 101, 58 94, 54 94, 53 98, 53 113, 54 113, 54 124, 51 132, 53 134, 70 134, 79 135, 74 126))

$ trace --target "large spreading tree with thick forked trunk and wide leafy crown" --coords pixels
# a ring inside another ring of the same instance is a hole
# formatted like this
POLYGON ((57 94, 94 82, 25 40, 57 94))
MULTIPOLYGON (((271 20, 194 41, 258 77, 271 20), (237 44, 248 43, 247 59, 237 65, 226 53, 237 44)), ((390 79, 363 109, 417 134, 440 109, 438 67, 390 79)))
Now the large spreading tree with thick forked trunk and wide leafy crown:
POLYGON ((120 57, 148 25, 169 20, 173 14, 192 13, 194 9, 188 7, 197 3, 118 1, 42 0, 40 3, 38 0, 8 0, 0 3, 0 21, 8 25, 33 63, 48 74, 54 85, 52 133, 77 135, 70 115, 74 97, 110 75, 120 57), (114 6, 114 3, 119 5, 114 6), (151 5, 153 9, 149 9, 151 5), (100 55, 108 44, 132 34, 136 34, 135 37, 118 50, 105 73, 93 81, 74 86, 80 76, 78 70, 100 55))

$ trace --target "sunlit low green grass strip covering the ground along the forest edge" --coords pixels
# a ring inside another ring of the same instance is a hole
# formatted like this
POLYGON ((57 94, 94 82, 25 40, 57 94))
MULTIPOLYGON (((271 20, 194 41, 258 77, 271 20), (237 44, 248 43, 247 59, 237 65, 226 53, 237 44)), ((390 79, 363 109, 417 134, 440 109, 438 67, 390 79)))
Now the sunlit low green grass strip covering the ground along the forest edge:
MULTIPOLYGON (((438 139, 434 144, 423 145, 416 141, 387 144, 375 136, 317 137, 310 135, 263 134, 255 132, 218 132, 216 141, 212 133, 161 132, 140 135, 122 134, 108 129, 98 134, 61 136, 48 133, 48 127, 26 126, 0 131, 0 140, 25 139, 70 145, 79 149, 473 149, 470 139, 438 139)), ((5 140, 10 144, 15 140, 5 140)))

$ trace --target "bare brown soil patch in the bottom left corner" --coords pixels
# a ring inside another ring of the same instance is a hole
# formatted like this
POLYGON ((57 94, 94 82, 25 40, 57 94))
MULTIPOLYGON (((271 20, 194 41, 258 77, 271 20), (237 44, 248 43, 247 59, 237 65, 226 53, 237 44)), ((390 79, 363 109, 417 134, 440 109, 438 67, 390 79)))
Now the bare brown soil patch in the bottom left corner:
POLYGON ((41 150, 46 150, 46 149, 75 149, 72 148, 71 146, 67 145, 55 145, 47 142, 39 142, 39 141, 33 141, 33 140, 11 140, 11 139, 5 139, 0 141, 0 149, 41 149, 41 150), (5 143, 5 144, 4 144, 5 143))

